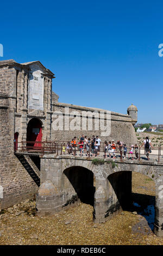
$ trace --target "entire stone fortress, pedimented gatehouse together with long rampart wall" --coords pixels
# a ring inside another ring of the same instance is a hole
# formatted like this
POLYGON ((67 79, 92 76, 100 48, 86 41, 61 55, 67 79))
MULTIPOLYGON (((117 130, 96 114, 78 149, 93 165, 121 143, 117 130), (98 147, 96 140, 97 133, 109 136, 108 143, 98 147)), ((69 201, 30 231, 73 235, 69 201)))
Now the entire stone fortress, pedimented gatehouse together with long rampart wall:
MULTIPOLYGON (((92 131, 86 131, 87 128, 53 130, 54 112, 64 113, 65 107, 69 107, 70 113, 102 110, 59 103, 58 95, 52 92, 53 78, 54 74, 39 61, 20 64, 11 59, 0 62, 0 209, 33 198, 39 188, 39 177, 31 166, 32 159, 14 154, 14 135, 17 133, 18 141, 27 141, 30 120, 40 121, 42 141, 70 141, 82 134, 101 137, 101 130, 95 131, 94 128, 92 131)), ((102 141, 136 142, 134 123, 136 118, 130 114, 111 112, 111 135, 101 137, 102 141)))

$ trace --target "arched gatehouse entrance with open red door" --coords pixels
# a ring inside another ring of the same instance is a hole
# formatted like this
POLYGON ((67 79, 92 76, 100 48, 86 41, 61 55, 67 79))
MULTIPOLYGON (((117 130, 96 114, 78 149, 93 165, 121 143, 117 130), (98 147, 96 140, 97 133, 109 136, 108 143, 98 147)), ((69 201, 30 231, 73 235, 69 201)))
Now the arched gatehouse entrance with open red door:
POLYGON ((27 126, 27 147, 28 149, 41 148, 42 141, 42 124, 37 118, 29 121, 27 126))

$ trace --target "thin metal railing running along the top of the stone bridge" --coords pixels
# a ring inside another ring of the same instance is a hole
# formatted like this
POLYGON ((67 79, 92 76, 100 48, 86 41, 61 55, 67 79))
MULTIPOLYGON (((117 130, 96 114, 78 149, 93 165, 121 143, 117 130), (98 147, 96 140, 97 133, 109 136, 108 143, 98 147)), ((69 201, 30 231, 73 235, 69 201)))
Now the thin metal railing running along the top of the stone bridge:
MULTIPOLYGON (((127 145, 127 154, 129 154, 131 145, 134 143, 130 143, 127 145)), ((71 145, 71 143, 70 143, 71 145)), ((33 141, 22 141, 18 142, 17 149, 15 150, 16 153, 22 152, 22 153, 38 153, 38 154, 56 154, 56 155, 77 155, 77 153, 80 153, 81 150, 79 149, 79 144, 77 143, 73 149, 71 146, 70 149, 67 150, 67 141, 43 141, 43 142, 33 142, 33 141), (65 147, 65 149, 64 149, 65 147)), ((95 150, 92 150, 91 143, 89 144, 89 150, 86 150, 86 145, 83 145, 83 154, 86 154, 87 157, 104 157, 106 158, 109 155, 108 149, 105 150, 105 144, 104 142, 101 142, 100 148, 98 153, 95 152, 95 150), (103 155, 102 155, 103 153, 103 155)), ((138 152, 139 156, 138 159, 141 160, 142 156, 146 155, 145 149, 138 146, 138 152)), ((116 145, 115 154, 120 154, 120 159, 123 159, 123 147, 119 147, 116 145)), ((112 152, 110 153, 112 155, 112 152)), ((155 156, 155 159, 159 162, 160 158, 163 156, 163 148, 161 148, 161 145, 156 148, 152 148, 152 153, 149 154, 150 156, 155 156)), ((116 155, 117 156, 117 155, 116 155)), ((135 156, 135 151, 133 152, 133 157, 135 156)), ((163 159, 162 159, 163 160, 163 159)))

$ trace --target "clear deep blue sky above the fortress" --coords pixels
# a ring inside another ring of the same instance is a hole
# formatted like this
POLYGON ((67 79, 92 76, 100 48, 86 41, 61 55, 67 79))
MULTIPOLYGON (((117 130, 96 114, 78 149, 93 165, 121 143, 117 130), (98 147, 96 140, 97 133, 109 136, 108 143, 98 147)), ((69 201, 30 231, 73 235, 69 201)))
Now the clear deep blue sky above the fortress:
POLYGON ((3 1, 0 22, 0 60, 40 60, 60 102, 163 123, 162 1, 3 1))

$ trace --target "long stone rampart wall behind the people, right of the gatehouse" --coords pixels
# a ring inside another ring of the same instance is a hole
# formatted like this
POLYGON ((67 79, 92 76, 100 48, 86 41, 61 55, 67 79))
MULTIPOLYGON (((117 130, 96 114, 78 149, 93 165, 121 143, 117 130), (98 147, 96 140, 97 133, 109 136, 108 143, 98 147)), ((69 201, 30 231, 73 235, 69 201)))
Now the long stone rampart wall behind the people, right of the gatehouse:
MULTIPOLYGON (((78 112, 79 113, 79 118, 80 118, 80 127, 81 130, 64 130, 64 131, 56 131, 53 130, 52 127, 52 139, 57 140, 57 141, 70 141, 74 136, 77 137, 77 139, 80 139, 80 137, 82 136, 82 134, 87 135, 87 138, 91 138, 92 135, 95 136, 99 136, 99 138, 101 138, 101 141, 111 141, 111 139, 114 139, 115 142, 119 139, 120 141, 122 141, 123 143, 126 144, 130 144, 130 143, 136 143, 137 142, 137 138, 135 135, 135 129, 133 126, 133 123, 131 123, 131 117, 129 115, 126 114, 119 114, 119 113, 115 113, 115 112, 111 112, 111 133, 109 134, 109 136, 101 136, 101 133, 103 132, 100 129, 100 124, 99 124, 99 130, 95 130, 95 118, 93 117, 92 119, 92 130, 88 130, 88 118, 86 116, 87 112, 95 112, 97 111, 99 113, 100 116, 100 112, 104 111, 106 112, 104 109, 99 109, 99 108, 89 108, 89 107, 82 107, 82 106, 76 106, 76 105, 71 105, 71 104, 66 104, 66 103, 60 103, 60 102, 56 102, 56 103, 52 103, 52 109, 53 112, 61 112, 63 113, 63 118, 64 118, 64 124, 65 124, 65 107, 69 108, 69 113, 71 114, 72 112, 78 112), (82 115, 82 113, 85 112, 84 115, 82 115), (86 119, 86 129, 82 129, 82 117, 83 119, 86 119)), ((74 119, 74 115, 72 114, 72 117, 70 115, 70 122, 71 120, 74 119)), ((106 114, 104 117, 104 125, 106 126, 106 114)), ((52 121, 54 121, 55 118, 53 118, 52 115, 52 121)), ((63 125, 64 126, 64 125, 63 125)), ((65 127, 64 127, 65 129, 65 127)))

